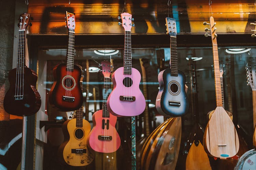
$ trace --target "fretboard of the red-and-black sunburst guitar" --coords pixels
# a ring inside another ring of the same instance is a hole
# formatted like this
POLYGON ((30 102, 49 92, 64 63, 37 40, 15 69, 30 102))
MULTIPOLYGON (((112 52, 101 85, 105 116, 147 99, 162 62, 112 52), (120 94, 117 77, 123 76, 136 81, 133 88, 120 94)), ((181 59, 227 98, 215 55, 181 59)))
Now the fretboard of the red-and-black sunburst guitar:
POLYGON ((69 70, 74 69, 74 46, 75 46, 75 32, 69 31, 69 41, 67 49, 67 64, 66 67, 69 70))

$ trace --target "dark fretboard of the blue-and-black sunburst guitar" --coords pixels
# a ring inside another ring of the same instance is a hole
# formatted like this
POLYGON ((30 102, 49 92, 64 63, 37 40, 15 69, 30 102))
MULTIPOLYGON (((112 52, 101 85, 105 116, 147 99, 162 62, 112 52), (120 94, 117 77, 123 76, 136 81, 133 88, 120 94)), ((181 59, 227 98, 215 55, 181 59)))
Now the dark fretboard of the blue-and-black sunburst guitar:
POLYGON ((177 41, 174 36, 170 38, 170 68, 171 75, 178 76, 177 41))

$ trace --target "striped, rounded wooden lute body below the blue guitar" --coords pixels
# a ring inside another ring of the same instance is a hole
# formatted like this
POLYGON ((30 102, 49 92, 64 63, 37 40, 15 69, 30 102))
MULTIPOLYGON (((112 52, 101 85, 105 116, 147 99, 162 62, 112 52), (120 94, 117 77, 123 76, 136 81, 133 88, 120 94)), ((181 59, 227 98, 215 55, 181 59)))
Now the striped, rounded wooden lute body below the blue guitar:
POLYGON ((146 139, 141 151, 141 169, 175 169, 181 142, 181 117, 160 124, 146 139))

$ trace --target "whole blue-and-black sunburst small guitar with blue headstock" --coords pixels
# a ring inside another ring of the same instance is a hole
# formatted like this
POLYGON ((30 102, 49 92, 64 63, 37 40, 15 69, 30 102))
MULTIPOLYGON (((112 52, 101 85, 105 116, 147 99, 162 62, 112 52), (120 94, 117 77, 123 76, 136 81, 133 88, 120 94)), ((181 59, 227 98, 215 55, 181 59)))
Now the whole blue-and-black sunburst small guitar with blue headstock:
POLYGON ((157 111, 165 117, 183 116, 188 112, 185 92, 185 74, 178 70, 176 21, 166 18, 167 34, 170 35, 170 68, 159 72, 159 92, 156 97, 157 111))

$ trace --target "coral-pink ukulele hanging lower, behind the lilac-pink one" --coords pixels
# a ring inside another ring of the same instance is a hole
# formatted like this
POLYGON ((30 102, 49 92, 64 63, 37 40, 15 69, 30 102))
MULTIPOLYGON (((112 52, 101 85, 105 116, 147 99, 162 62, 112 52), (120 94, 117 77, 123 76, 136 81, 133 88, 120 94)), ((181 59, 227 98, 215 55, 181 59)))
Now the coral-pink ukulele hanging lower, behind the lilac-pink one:
POLYGON ((110 62, 101 62, 104 75, 104 95, 102 110, 93 114, 94 127, 87 137, 87 145, 93 150, 102 153, 115 152, 120 147, 120 137, 115 129, 116 116, 109 113, 106 107, 110 86, 110 62))

